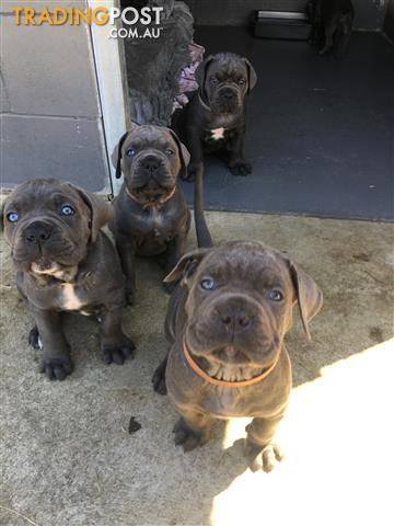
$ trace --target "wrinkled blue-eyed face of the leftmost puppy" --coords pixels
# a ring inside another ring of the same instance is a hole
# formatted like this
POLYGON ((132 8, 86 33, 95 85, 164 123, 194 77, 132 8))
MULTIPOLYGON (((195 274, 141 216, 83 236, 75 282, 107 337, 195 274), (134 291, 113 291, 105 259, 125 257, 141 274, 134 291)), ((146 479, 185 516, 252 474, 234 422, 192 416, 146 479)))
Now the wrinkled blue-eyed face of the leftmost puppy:
POLYGON ((3 210, 16 270, 55 277, 74 273, 86 255, 90 217, 79 192, 67 183, 32 180, 18 186, 3 210))

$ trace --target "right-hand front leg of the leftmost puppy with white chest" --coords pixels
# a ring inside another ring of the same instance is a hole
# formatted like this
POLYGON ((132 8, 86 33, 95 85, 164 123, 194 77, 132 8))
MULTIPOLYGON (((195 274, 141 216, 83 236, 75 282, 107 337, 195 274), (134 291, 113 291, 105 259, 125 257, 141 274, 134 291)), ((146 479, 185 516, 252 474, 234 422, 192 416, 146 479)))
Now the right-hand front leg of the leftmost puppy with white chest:
POLYGON ((121 330, 123 306, 109 306, 103 315, 101 347, 106 364, 123 365, 132 357, 134 342, 121 330))

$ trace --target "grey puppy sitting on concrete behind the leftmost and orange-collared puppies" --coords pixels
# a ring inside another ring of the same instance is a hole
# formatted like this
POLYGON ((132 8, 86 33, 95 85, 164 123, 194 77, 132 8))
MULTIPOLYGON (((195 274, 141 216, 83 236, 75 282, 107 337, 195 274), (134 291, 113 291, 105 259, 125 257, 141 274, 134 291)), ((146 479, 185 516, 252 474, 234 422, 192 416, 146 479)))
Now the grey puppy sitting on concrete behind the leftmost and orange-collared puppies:
POLYGON ((189 155, 171 129, 135 125, 112 159, 116 176, 123 172, 125 180, 113 202, 109 228, 126 276, 126 300, 132 305, 136 255, 158 256, 169 273, 184 253, 190 213, 177 176, 185 178, 189 155))

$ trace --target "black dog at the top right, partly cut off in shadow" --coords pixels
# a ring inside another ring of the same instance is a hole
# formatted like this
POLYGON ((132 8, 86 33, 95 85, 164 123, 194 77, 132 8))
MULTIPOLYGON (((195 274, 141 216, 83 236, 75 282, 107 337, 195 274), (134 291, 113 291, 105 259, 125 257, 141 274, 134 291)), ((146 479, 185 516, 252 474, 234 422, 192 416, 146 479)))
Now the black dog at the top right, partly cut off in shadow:
POLYGON ((355 10, 351 0, 311 0, 308 13, 312 23, 310 43, 317 45, 320 55, 333 49, 341 58, 351 36, 355 10))

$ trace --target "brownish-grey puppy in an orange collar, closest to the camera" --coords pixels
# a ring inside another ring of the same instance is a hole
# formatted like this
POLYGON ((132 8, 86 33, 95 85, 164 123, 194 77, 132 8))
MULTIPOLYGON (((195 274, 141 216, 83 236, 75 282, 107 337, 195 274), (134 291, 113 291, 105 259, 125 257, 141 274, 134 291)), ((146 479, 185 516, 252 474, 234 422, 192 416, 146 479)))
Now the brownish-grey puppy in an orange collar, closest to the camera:
POLYGON ((291 389, 292 310, 298 304, 309 335, 322 293, 298 265, 251 241, 184 255, 166 281, 179 278, 165 324, 172 347, 153 377, 182 415, 175 444, 188 451, 208 439, 213 419, 252 416, 246 458, 269 471, 280 460, 273 437, 291 389))

